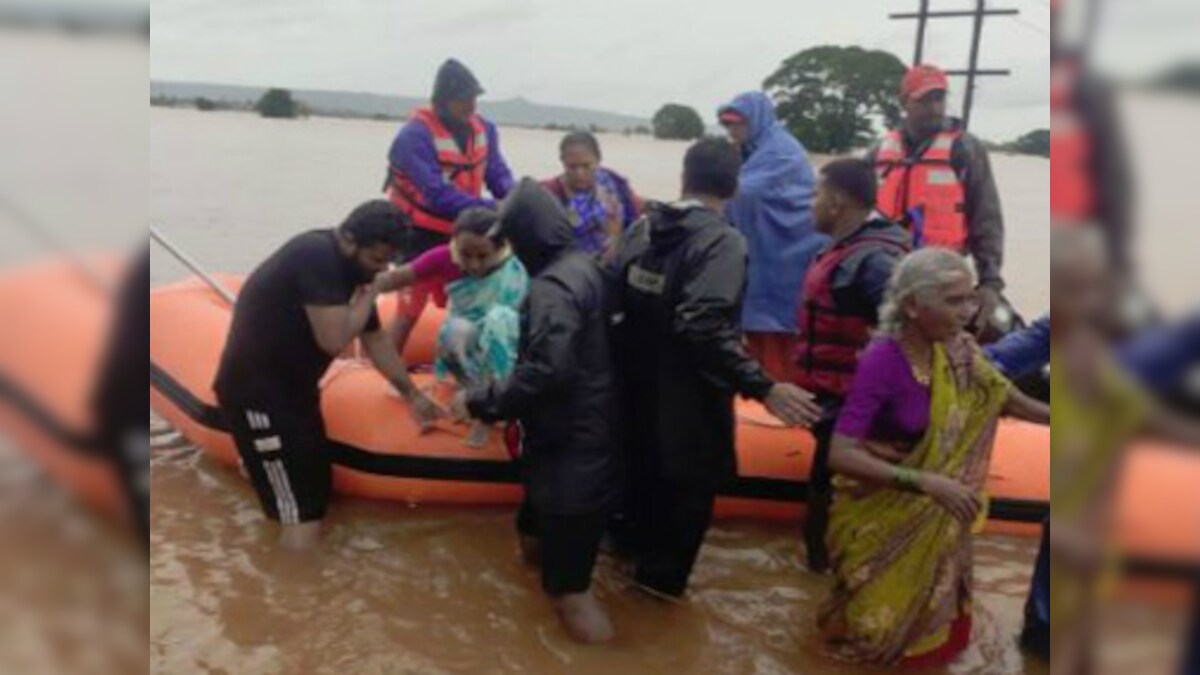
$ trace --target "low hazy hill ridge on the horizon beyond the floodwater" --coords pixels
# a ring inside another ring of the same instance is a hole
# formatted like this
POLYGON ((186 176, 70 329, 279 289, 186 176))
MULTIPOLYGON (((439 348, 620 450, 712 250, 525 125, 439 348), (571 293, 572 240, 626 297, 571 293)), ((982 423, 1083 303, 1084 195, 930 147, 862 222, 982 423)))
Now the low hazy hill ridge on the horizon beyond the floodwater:
MULTIPOLYGON (((150 82, 152 100, 193 101, 208 98, 222 104, 240 107, 252 106, 266 91, 265 86, 236 86, 229 84, 204 84, 184 82, 150 82)), ((293 97, 304 103, 316 115, 402 119, 419 106, 428 104, 426 98, 409 96, 383 96, 380 94, 360 94, 353 91, 322 91, 313 89, 293 89, 293 97)), ((649 127, 649 120, 618 113, 569 108, 564 106, 546 106, 524 98, 479 102, 480 112, 490 120, 506 126, 544 127, 550 125, 562 127, 590 126, 607 131, 634 130, 649 127)))

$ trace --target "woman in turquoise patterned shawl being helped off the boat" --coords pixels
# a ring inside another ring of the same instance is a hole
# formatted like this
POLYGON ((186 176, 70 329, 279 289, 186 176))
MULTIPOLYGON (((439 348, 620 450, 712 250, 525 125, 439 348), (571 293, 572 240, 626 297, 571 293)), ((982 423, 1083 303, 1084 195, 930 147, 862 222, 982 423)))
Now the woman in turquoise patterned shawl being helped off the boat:
MULTIPOLYGON (((434 374, 439 381, 452 376, 463 389, 504 380, 516 364, 529 276, 498 223, 492 209, 467 209, 455 221, 450 244, 390 273, 395 288, 425 285, 434 298, 449 300, 434 374)), ((466 443, 482 447, 488 435, 490 428, 475 422, 466 443)))

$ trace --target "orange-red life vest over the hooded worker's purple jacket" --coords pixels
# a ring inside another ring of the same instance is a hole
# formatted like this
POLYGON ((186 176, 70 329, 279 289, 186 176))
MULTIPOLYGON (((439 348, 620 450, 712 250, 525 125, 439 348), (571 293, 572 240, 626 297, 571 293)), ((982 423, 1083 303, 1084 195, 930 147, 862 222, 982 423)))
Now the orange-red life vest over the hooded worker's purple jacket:
MULTIPOLYGON (((454 133, 430 108, 419 108, 413 113, 413 121, 424 124, 433 136, 433 148, 438 154, 438 166, 442 178, 458 191, 472 197, 484 193, 484 177, 487 174, 487 127, 479 115, 470 118, 470 141, 463 150, 455 141, 454 133)), ((454 232, 454 220, 436 214, 430 209, 430 202, 416 189, 416 185, 404 175, 398 167, 392 166, 388 181, 388 198, 396 208, 408 214, 416 227, 450 234, 454 232)))

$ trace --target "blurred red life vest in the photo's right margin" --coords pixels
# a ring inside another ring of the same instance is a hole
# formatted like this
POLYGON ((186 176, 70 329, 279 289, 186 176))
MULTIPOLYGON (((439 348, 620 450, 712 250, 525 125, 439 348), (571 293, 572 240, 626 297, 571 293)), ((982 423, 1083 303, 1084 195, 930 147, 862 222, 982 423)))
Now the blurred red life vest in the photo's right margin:
POLYGON ((1076 70, 1060 65, 1050 78, 1050 221, 1078 225, 1096 215, 1092 141, 1070 101, 1076 70))

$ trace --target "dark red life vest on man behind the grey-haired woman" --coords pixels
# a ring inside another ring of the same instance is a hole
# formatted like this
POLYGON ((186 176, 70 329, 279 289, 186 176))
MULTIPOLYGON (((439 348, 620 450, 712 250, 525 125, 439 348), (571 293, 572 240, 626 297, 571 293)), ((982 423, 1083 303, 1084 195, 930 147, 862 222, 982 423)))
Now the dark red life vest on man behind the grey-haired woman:
POLYGON ((871 341, 875 328, 866 317, 839 307, 833 297, 833 276, 841 263, 868 246, 908 252, 908 247, 882 237, 862 237, 835 244, 809 267, 800 305, 796 372, 800 387, 844 399, 858 369, 858 354, 871 341))

